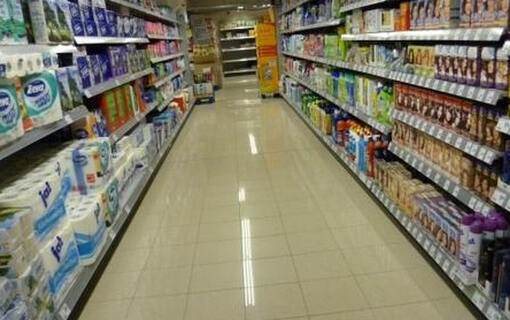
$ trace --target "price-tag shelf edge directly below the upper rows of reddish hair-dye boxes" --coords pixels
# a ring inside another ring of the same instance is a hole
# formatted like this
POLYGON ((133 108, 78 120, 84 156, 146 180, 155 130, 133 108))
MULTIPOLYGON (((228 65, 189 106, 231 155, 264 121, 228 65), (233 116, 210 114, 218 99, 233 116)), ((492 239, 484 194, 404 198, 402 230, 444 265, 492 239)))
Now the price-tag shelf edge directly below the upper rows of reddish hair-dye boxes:
POLYGON ((443 128, 414 114, 392 109, 390 116, 489 165, 503 156, 503 153, 500 151, 466 138, 461 134, 443 128))

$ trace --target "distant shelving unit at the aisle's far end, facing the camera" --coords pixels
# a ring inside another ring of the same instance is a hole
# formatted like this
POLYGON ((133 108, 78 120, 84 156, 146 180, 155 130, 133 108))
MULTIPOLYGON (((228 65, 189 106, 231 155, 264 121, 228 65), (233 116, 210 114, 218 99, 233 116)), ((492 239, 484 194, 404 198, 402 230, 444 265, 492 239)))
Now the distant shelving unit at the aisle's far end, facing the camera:
POLYGON ((245 21, 232 23, 220 29, 224 75, 257 72, 254 29, 254 22, 245 21))

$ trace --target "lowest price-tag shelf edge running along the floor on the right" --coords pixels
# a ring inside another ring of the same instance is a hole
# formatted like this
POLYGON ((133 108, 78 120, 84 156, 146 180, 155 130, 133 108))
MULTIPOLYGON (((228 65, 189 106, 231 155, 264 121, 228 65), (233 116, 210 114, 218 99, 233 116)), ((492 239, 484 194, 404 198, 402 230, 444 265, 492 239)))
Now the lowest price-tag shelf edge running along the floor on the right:
MULTIPOLYGON (((461 280, 463 278, 463 272, 459 270, 457 261, 440 245, 438 245, 436 240, 430 236, 427 231, 423 230, 421 226, 415 224, 405 212, 400 210, 398 205, 384 193, 384 191, 372 178, 367 177, 364 172, 358 170, 354 163, 347 158, 346 152, 339 148, 332 141, 330 136, 317 129, 295 103, 293 103, 284 94, 282 94, 282 97, 308 125, 308 127, 313 130, 315 135, 319 137, 319 139, 321 139, 326 146, 337 155, 337 158, 350 169, 353 175, 366 186, 366 190, 372 193, 372 195, 374 195, 375 198, 384 205, 388 212, 393 215, 393 217, 404 227, 405 230, 407 230, 420 247, 444 271, 453 284, 455 284, 455 286, 485 315, 485 317, 491 320, 509 320, 509 318, 500 311, 497 306, 492 303, 475 285, 464 285, 461 280)), ((392 145, 390 144, 390 147, 391 146, 392 145)))

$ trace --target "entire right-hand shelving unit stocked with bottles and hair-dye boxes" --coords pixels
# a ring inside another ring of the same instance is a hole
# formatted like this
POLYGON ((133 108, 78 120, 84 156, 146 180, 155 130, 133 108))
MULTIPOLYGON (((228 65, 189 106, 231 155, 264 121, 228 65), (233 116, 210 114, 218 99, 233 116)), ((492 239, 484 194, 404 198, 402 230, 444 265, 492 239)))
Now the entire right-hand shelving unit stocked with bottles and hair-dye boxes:
POLYGON ((459 295, 510 319, 508 12, 477 5, 284 1, 281 93, 459 295))

